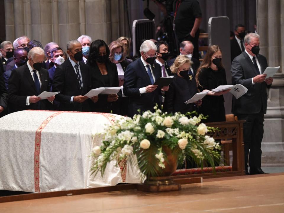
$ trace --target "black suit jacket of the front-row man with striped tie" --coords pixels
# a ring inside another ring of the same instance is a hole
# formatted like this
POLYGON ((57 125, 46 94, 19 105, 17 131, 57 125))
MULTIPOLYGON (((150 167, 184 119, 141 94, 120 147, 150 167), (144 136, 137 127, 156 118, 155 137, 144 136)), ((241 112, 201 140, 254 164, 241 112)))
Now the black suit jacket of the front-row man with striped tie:
POLYGON ((65 62, 55 70, 52 91, 60 92, 55 96, 55 100, 60 102, 59 110, 85 112, 90 110, 90 99, 85 100, 83 103, 70 102, 72 96, 85 95, 91 90, 89 66, 82 62, 79 62, 79 66, 83 82, 82 90, 79 87, 76 73, 69 59, 65 60, 65 62))

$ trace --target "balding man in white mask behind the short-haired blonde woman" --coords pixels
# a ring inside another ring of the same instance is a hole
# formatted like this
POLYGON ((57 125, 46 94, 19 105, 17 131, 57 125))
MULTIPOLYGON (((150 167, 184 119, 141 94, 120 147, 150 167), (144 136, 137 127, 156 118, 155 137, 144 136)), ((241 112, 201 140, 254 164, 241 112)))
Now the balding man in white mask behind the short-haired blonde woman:
MULTIPOLYGON (((199 60, 192 57, 194 46, 191 43, 191 41, 183 41, 180 43, 180 55, 186 55, 189 59, 191 59, 191 73, 188 73, 189 75, 193 75, 193 77, 196 74, 197 69, 199 68, 200 62, 199 60)), ((168 61, 168 65, 171 66, 176 58, 173 58, 168 61)))

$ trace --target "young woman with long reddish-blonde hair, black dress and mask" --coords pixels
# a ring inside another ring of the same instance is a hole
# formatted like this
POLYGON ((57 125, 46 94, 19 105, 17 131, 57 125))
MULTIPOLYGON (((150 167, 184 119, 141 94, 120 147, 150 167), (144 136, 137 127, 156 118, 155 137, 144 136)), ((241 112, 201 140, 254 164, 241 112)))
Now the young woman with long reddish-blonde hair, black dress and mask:
POLYGON ((222 51, 218 45, 212 45, 196 72, 197 87, 201 91, 209 91, 202 99, 200 113, 209 116, 206 122, 226 121, 224 97, 230 89, 222 92, 212 92, 220 85, 227 85, 225 68, 222 65, 222 51))

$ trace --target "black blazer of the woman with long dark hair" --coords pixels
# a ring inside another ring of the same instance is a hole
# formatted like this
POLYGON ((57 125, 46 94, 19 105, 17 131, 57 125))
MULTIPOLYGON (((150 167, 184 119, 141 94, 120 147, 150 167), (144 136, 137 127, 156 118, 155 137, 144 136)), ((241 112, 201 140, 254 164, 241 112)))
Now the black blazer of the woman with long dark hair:
MULTIPOLYGON (((90 66, 90 68, 92 76, 92 89, 107 87, 98 65, 94 64, 93 66, 90 66)), ((109 87, 118 87, 118 74, 116 65, 108 60, 106 62, 106 70, 109 76, 109 87)), ((121 91, 118 95, 121 97, 121 91)), ((119 105, 117 101, 107 102, 107 95, 99 95, 98 102, 91 104, 91 111, 105 113, 110 113, 112 111, 112 113, 118 114, 119 105)))

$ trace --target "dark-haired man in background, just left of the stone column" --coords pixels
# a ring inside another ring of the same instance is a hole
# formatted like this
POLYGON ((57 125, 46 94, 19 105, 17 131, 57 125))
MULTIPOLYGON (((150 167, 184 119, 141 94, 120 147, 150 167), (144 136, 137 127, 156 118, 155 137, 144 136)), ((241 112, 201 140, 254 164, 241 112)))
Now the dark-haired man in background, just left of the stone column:
POLYGON ((246 35, 246 28, 242 24, 238 24, 235 26, 235 37, 230 40, 231 42, 231 61, 234 60, 235 57, 240 55, 243 51, 245 51, 245 44, 243 42, 243 38, 246 35))

